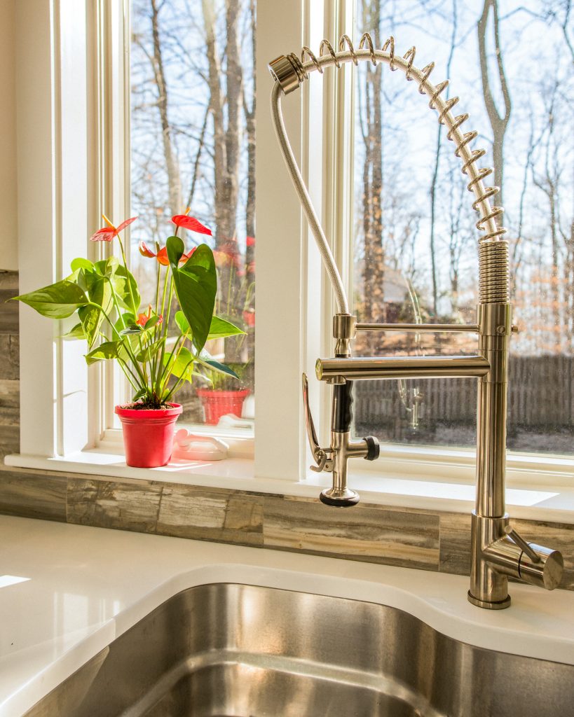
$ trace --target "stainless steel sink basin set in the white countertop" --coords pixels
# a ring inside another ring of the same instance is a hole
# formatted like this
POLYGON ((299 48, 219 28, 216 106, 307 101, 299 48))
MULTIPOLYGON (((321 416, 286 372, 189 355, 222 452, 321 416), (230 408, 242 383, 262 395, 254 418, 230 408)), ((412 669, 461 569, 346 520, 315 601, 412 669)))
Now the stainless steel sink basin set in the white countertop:
POLYGON ((567 717, 574 667, 481 650, 399 609, 237 584, 181 592, 34 717, 567 717))

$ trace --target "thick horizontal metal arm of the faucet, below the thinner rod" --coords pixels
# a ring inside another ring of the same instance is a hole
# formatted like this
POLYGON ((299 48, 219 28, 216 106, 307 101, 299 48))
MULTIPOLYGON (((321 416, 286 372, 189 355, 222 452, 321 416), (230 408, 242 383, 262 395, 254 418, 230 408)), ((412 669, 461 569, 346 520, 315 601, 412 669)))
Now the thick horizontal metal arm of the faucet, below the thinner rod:
POLYGON ((347 381, 400 378, 456 378, 486 376, 489 362, 482 356, 355 356, 349 359, 317 359, 319 381, 341 376, 347 381))

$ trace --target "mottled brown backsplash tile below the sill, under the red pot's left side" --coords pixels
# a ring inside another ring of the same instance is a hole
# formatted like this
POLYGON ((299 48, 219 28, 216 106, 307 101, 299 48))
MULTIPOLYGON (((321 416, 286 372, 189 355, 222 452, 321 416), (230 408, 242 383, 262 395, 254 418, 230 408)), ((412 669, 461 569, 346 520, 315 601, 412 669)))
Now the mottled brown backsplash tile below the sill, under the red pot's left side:
POLYGON ((67 522, 154 533, 160 496, 149 483, 68 478, 67 522))

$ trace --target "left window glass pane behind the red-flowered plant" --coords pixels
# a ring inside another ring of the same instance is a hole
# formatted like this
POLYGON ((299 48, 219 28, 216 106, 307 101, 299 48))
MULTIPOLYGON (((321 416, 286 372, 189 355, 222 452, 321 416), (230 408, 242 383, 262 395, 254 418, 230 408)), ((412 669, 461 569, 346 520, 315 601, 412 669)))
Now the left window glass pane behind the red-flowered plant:
POLYGON ((240 379, 222 381, 202 369, 207 378, 194 376, 177 394, 189 422, 215 423, 220 412, 241 415, 254 389, 254 53, 255 0, 131 2, 131 206, 139 215, 131 265, 143 306, 156 305, 159 263, 142 256, 138 242, 154 253, 164 247, 175 229, 171 217, 189 207, 213 236, 180 229, 186 251, 210 244, 216 314, 245 331, 208 341, 207 351, 240 379))

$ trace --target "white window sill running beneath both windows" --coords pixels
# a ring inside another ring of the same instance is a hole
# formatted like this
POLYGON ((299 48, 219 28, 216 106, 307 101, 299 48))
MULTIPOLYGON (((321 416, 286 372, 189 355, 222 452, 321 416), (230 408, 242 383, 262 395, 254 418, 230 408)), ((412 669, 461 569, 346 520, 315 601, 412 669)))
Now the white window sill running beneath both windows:
MULTIPOLYGON (((58 473, 153 480, 159 483, 181 483, 317 499, 319 491, 330 485, 328 475, 311 472, 303 481, 255 478, 253 460, 240 457, 212 462, 172 460, 169 465, 159 468, 133 468, 126 465, 121 446, 113 444, 65 457, 13 454, 6 456, 5 463, 13 467, 58 473)), ((463 480, 443 478, 434 475, 438 471, 433 470, 425 471, 425 475, 420 472, 419 475, 407 476, 404 473, 401 475, 401 467, 390 473, 384 467, 375 470, 375 465, 370 464, 371 470, 349 471, 349 485, 359 490, 363 503, 450 513, 470 513, 474 508, 474 480, 469 480, 468 476, 463 480)), ((546 485, 546 478, 544 485, 532 485, 529 480, 524 480, 522 485, 519 485, 516 477, 509 483, 506 492, 507 511, 513 518, 574 523, 574 488, 571 483, 546 485)))

